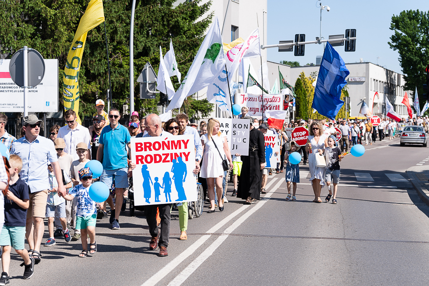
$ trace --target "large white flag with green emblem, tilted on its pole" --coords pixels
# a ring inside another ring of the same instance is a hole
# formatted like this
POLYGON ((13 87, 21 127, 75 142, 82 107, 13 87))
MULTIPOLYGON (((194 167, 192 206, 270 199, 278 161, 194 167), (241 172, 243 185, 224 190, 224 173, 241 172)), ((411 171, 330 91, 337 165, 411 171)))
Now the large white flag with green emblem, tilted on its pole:
POLYGON ((215 17, 210 30, 202 42, 197 55, 166 111, 180 108, 186 96, 204 89, 217 78, 225 68, 225 55, 219 20, 215 17))

